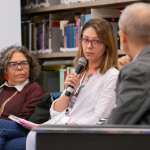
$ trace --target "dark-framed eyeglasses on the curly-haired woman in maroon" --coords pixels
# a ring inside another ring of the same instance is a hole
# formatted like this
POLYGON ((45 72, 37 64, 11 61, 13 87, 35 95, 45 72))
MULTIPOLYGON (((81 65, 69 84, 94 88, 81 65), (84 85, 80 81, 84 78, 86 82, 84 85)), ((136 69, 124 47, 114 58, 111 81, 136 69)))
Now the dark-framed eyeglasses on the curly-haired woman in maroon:
POLYGON ((8 62, 8 65, 13 70, 17 69, 19 65, 20 65, 20 67, 22 69, 25 69, 25 68, 27 68, 29 66, 29 61, 21 61, 20 63, 17 63, 17 62, 8 62))

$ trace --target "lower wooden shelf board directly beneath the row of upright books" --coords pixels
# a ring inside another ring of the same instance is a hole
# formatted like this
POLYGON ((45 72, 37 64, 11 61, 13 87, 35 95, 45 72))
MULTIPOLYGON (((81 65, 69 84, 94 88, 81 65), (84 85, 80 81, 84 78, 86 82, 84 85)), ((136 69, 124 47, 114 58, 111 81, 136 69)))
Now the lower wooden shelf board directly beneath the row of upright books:
MULTIPOLYGON (((50 53, 50 54, 36 54, 35 56, 39 59, 45 58, 65 58, 65 57, 75 57, 77 52, 57 52, 57 53, 50 53)), ((118 55, 124 55, 125 52, 123 50, 118 50, 118 55)))

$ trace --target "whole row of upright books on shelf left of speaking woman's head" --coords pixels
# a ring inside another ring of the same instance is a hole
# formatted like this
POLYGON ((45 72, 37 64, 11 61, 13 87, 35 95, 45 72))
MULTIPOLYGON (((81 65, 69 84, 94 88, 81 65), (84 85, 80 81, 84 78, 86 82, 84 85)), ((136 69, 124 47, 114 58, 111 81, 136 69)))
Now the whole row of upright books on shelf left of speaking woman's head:
POLYGON ((91 14, 82 14, 74 21, 49 17, 39 22, 22 22, 22 45, 32 54, 78 51, 80 31, 91 14))

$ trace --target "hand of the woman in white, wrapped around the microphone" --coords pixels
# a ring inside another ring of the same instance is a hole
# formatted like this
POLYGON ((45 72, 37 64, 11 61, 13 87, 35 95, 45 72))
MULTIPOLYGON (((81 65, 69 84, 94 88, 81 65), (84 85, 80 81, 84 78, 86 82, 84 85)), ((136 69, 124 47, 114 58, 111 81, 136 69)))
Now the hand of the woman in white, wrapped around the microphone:
POLYGON ((68 88, 69 85, 73 86, 76 89, 79 86, 79 77, 75 72, 72 72, 69 76, 67 76, 64 85, 65 89, 68 88))

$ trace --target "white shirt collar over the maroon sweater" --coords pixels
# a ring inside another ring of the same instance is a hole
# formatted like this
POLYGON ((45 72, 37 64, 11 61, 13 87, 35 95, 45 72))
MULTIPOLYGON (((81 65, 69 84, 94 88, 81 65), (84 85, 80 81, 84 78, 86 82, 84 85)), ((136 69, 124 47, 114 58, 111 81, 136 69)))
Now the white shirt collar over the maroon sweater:
POLYGON ((15 85, 15 86, 9 86, 8 83, 7 83, 7 81, 5 81, 5 83, 2 84, 2 85, 0 86, 0 88, 5 85, 5 86, 8 86, 8 87, 15 87, 19 92, 21 92, 22 89, 23 89, 29 82, 30 82, 29 79, 27 79, 27 80, 24 81, 23 83, 17 84, 17 85, 15 85))

